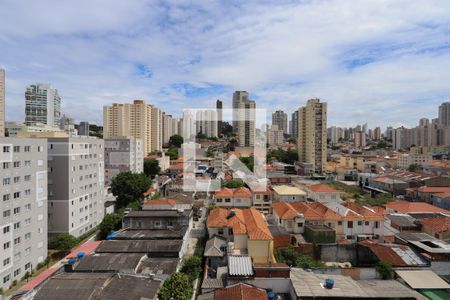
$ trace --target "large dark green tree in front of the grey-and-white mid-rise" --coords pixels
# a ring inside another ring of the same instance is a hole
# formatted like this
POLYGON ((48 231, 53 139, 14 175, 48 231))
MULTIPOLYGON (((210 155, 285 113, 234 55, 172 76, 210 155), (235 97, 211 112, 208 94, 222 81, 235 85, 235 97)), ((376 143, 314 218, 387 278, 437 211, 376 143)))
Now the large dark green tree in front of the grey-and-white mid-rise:
POLYGON ((142 201, 143 193, 151 184, 151 179, 144 173, 122 172, 113 177, 111 191, 117 198, 117 207, 122 208, 134 201, 142 201))

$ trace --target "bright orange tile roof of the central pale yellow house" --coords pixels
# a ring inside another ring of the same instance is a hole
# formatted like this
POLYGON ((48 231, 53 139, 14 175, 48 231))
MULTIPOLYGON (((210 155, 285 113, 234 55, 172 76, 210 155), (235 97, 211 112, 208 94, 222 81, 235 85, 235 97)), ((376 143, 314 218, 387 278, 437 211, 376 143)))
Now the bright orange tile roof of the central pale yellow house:
POLYGON ((208 227, 228 227, 234 234, 247 234, 250 240, 272 240, 267 222, 254 208, 213 209, 208 217, 208 227))

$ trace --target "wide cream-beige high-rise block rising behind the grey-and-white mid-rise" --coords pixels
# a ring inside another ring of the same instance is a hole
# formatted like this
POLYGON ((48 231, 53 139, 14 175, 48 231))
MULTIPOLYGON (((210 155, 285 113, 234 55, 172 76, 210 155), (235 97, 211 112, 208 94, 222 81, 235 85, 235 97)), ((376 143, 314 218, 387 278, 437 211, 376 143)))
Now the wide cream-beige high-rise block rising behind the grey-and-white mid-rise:
POLYGON ((162 113, 144 100, 103 107, 103 138, 141 139, 145 153, 162 149, 162 113))

